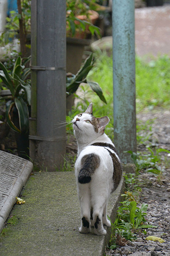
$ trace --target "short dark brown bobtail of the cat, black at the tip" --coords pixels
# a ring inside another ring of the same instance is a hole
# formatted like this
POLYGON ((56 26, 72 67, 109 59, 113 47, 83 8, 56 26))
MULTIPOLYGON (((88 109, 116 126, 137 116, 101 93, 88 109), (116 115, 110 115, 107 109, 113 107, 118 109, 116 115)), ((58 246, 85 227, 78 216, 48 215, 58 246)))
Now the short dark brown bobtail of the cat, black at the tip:
POLYGON ((82 167, 78 174, 78 182, 81 184, 89 183, 92 174, 100 165, 100 158, 94 153, 84 155, 81 159, 81 165, 82 167))

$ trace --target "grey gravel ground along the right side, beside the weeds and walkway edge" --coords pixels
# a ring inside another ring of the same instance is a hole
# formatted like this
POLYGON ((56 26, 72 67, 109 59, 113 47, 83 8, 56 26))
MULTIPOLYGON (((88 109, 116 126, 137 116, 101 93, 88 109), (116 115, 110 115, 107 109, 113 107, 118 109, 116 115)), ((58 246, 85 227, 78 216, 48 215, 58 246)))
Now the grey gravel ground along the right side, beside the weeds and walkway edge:
MULTIPOLYGON (((170 150, 170 111, 157 109, 137 116, 143 124, 152 120, 152 131, 149 141, 153 146, 170 150)), ((141 132, 142 135, 143 132, 141 132)), ((144 135, 144 134, 143 134, 144 135)), ((138 150, 144 150, 145 145, 139 145, 138 150)), ((149 228, 147 234, 137 235, 137 240, 128 242, 125 246, 118 246, 116 250, 110 250, 106 255, 111 256, 170 256, 170 155, 162 153, 162 166, 165 171, 160 180, 152 173, 141 173, 139 181, 144 183, 140 194, 140 205, 148 204, 146 220, 149 224, 157 226, 149 228), (166 163, 166 166, 164 164, 166 163), (157 236, 165 240, 164 243, 146 241, 147 236, 157 236)))

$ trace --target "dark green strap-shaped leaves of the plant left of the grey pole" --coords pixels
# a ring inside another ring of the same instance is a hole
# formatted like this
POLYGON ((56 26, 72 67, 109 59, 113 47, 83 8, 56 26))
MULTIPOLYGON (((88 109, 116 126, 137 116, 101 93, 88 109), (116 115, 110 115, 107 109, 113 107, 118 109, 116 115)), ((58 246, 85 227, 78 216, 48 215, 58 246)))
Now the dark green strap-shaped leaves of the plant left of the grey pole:
MULTIPOLYGON (((30 79, 27 79, 28 75, 30 75, 30 68, 25 67, 29 60, 30 57, 21 59, 18 56, 11 74, 3 63, 0 62, 0 78, 11 92, 11 99, 6 103, 6 119, 8 125, 14 131, 20 133, 27 133, 29 129, 28 105, 31 104, 31 82, 30 79), (14 106, 18 112, 19 128, 13 122, 14 106)), ((8 96, 7 98, 9 99, 8 96)))

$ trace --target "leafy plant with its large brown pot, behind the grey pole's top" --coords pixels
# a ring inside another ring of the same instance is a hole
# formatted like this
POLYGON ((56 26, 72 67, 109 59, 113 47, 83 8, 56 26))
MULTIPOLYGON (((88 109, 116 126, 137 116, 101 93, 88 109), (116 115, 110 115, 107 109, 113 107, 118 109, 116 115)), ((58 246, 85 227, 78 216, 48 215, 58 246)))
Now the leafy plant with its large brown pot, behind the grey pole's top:
POLYGON ((95 26, 100 7, 96 0, 66 1, 67 72, 78 72, 84 47, 91 43, 90 36, 100 37, 100 29, 95 26))

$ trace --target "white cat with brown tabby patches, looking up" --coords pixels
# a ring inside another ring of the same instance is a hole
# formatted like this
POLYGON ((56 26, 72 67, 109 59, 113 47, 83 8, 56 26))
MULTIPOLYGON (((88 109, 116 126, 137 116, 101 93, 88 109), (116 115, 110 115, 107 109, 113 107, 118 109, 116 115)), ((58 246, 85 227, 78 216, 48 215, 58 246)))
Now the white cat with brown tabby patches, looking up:
POLYGON ((103 225, 111 226, 107 200, 118 187, 122 166, 114 144, 104 133, 109 121, 108 116, 93 116, 92 103, 72 120, 78 144, 75 176, 81 207, 80 233, 89 233, 94 226, 96 235, 105 235, 103 225))

